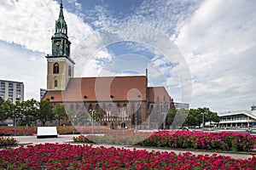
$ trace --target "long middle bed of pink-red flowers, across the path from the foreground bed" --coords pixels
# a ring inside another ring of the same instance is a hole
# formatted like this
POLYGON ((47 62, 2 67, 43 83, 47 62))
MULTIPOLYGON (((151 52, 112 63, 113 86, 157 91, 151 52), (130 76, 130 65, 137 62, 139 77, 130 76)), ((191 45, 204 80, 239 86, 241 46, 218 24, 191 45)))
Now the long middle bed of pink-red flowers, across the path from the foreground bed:
POLYGON ((250 151, 255 148, 256 144, 256 137, 243 133, 159 131, 151 134, 126 131, 125 133, 108 133, 103 136, 79 136, 78 138, 73 138, 73 141, 79 143, 137 144, 178 149, 225 151, 250 151))

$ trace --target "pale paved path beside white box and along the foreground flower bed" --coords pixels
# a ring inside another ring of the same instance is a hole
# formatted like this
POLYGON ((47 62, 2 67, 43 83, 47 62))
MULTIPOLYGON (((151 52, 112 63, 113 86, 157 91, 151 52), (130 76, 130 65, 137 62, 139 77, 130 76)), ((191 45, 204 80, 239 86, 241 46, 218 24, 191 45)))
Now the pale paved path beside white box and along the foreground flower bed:
MULTIPOLYGON (((37 139, 37 136, 15 136, 15 139, 18 139, 20 141, 20 144, 45 144, 45 143, 58 143, 58 144, 65 144, 67 142, 71 142, 73 137, 78 137, 79 134, 74 134, 74 135, 58 135, 58 138, 49 138, 49 139, 37 139)), ((133 150, 134 147, 130 146, 124 146, 124 145, 111 145, 111 144, 93 144, 93 147, 98 147, 100 145, 103 145, 107 148, 109 147, 117 147, 117 148, 124 148, 128 150, 133 150)), ((185 152, 190 152, 194 155, 212 155, 214 152, 210 151, 195 151, 195 150, 172 150, 172 149, 158 149, 158 148, 141 148, 137 147, 137 150, 148 150, 148 151, 167 151, 167 152, 175 152, 176 154, 179 153, 185 153, 185 152)), ((223 155, 223 156, 230 156, 235 159, 248 159, 249 157, 252 157, 249 154, 242 154, 242 153, 217 153, 218 155, 223 155)))

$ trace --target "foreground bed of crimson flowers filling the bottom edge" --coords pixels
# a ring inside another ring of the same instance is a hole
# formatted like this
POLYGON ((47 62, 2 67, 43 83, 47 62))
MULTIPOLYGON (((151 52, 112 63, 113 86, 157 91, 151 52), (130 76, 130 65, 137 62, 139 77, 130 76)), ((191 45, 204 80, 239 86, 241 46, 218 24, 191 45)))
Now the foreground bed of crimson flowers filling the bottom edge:
POLYGON ((189 152, 125 150, 73 144, 38 144, 0 150, 1 169, 255 169, 256 157, 195 156, 189 152))

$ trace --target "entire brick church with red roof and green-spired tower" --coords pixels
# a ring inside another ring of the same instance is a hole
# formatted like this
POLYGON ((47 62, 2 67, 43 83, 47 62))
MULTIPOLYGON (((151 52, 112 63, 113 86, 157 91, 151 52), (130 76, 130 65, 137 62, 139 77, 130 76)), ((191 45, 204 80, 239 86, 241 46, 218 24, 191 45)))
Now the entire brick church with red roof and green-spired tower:
POLYGON ((70 56, 62 3, 51 42, 43 100, 65 105, 67 114, 73 117, 71 123, 91 125, 94 119, 96 125, 114 128, 165 126, 166 113, 174 107, 173 99, 164 87, 148 87, 148 71, 145 76, 73 77, 75 62, 70 56))

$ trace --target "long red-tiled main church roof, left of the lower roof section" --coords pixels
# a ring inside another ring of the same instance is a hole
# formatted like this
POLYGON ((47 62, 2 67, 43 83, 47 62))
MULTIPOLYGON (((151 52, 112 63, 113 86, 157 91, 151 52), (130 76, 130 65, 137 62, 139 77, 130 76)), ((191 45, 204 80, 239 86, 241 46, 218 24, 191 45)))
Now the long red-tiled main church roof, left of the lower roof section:
POLYGON ((50 90, 44 99, 51 102, 146 100, 147 77, 70 78, 66 90, 50 90))

